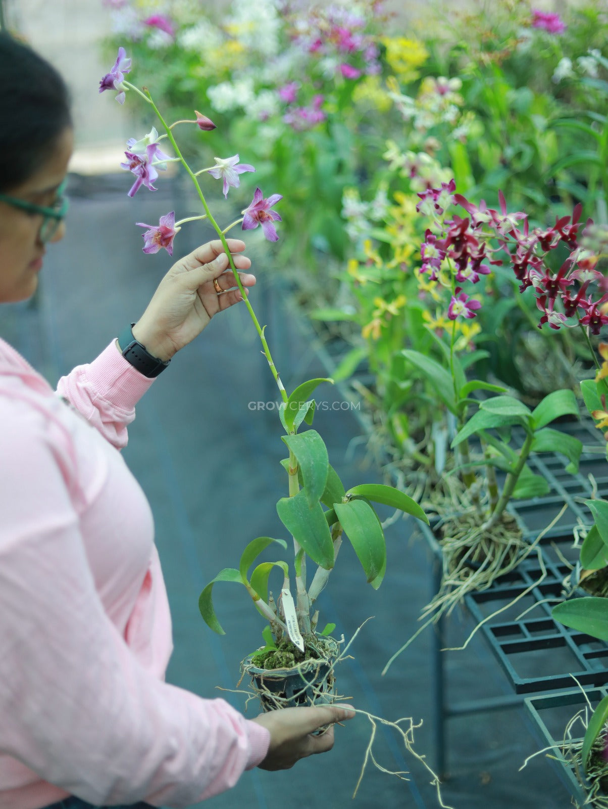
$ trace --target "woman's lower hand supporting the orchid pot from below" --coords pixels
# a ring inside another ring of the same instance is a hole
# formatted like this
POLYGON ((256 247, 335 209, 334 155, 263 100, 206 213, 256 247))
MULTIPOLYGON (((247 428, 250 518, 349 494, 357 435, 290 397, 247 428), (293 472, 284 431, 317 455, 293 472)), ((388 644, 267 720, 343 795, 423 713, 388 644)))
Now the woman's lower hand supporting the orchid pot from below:
POLYGON ((334 746, 334 723, 352 719, 355 712, 346 705, 318 705, 313 708, 282 708, 260 714, 253 722, 270 731, 270 747, 261 769, 289 769, 301 758, 324 753, 334 746), (329 725, 326 731, 314 731, 329 725))

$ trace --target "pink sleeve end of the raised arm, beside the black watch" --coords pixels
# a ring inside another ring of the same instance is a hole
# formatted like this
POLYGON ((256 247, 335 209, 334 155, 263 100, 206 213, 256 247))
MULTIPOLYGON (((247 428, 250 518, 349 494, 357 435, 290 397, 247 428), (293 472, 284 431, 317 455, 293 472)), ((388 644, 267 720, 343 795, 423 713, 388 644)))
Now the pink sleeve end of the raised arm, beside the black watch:
POLYGON ((87 365, 78 365, 57 384, 69 400, 116 449, 127 444, 127 426, 135 405, 154 379, 140 374, 116 348, 116 340, 87 365))

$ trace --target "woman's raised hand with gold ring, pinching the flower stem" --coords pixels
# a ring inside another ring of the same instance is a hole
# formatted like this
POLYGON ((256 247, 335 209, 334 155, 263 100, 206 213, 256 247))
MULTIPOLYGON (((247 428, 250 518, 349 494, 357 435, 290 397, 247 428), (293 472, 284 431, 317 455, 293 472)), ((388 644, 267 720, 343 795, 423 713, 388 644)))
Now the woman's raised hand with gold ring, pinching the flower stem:
MULTIPOLYGON (((239 255, 245 249, 244 242, 227 239, 227 243, 234 266, 239 270, 249 269, 251 261, 239 255)), ((249 273, 239 272, 239 277, 243 286, 255 284, 255 276, 249 273)), ((153 357, 171 359, 202 332, 213 315, 241 300, 243 296, 222 242, 219 239, 208 242, 171 267, 146 311, 133 326, 133 337, 145 345, 153 357), (217 292, 213 286, 215 278, 222 290, 230 292, 217 292)))

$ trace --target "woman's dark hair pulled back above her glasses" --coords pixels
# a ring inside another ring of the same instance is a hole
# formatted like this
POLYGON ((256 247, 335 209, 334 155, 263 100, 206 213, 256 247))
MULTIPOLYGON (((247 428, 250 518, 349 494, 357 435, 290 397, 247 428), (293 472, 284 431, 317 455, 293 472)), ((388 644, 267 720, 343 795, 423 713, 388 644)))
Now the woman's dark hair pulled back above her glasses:
POLYGON ((0 192, 32 176, 72 125, 70 93, 49 62, 0 31, 0 192))

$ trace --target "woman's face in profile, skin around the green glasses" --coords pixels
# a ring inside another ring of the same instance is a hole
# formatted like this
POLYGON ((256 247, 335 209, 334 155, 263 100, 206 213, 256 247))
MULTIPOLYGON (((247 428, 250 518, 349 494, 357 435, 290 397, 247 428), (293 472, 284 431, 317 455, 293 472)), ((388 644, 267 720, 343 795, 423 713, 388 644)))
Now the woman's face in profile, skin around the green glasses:
MULTIPOLYGON (((46 163, 16 188, 6 189, 6 194, 34 205, 53 205, 73 146, 72 129, 65 129, 53 151, 49 151, 46 163)), ((43 219, 42 214, 30 214, 0 201, 0 303, 25 300, 36 291, 46 252, 40 241, 43 219)), ((51 241, 59 241, 64 234, 65 225, 61 222, 51 241)))

